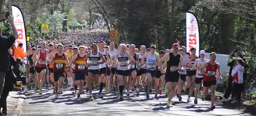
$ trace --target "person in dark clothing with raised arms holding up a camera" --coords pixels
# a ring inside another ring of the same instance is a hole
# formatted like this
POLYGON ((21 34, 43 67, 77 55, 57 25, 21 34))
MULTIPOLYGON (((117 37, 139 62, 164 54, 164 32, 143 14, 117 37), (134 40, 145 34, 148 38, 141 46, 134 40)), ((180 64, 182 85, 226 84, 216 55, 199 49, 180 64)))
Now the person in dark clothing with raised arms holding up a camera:
POLYGON ((6 71, 8 71, 8 68, 10 67, 10 58, 9 58, 9 49, 12 46, 12 44, 15 42, 15 40, 18 38, 18 31, 14 25, 13 17, 6 15, 7 12, 4 12, 3 15, 0 16, 0 20, 8 19, 11 27, 12 27, 12 33, 13 35, 9 38, 6 38, 2 36, 2 28, 0 28, 0 54, 2 55, 0 57, 0 96, 3 91, 4 87, 4 78, 6 77, 6 71))

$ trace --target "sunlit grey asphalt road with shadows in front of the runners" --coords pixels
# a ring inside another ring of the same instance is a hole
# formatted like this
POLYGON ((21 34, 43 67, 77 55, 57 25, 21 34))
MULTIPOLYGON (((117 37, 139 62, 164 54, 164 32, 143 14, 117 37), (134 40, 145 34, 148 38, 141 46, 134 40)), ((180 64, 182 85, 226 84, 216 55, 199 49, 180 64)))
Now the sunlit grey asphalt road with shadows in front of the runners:
MULTIPOLYGON (((117 93, 108 93, 108 97, 99 98, 98 89, 93 91, 94 101, 89 101, 89 93, 81 95, 82 99, 73 97, 72 91, 64 88, 59 99, 54 100, 55 94, 52 87, 43 88, 43 95, 38 94, 35 89, 29 90, 26 96, 24 109, 21 116, 250 116, 249 113, 227 107, 223 104, 215 104, 216 109, 210 111, 210 101, 202 101, 198 98, 198 104, 194 104, 194 97, 190 103, 186 103, 187 95, 183 95, 183 102, 177 97, 173 98, 173 107, 167 107, 167 97, 154 98, 150 94, 149 100, 145 93, 140 96, 130 94, 129 99, 120 101, 117 93)), ((102 92, 105 92, 103 90, 102 92)))

